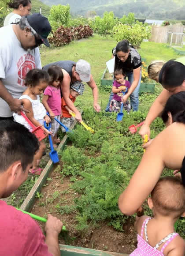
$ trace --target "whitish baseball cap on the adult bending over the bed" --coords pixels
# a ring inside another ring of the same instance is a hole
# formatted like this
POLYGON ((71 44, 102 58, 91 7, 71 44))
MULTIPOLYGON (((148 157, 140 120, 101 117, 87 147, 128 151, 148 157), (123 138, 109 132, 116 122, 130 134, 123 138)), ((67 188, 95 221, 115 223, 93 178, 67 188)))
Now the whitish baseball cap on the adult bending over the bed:
POLYGON ((82 82, 89 82, 91 75, 91 66, 86 60, 78 60, 76 63, 76 72, 80 76, 82 82))

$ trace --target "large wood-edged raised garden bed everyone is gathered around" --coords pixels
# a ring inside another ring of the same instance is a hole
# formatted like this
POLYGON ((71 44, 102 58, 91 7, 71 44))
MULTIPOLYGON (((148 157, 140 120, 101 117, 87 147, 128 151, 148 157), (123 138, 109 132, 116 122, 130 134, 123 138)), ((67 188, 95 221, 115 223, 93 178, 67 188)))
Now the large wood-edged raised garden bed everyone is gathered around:
MULTIPOLYGON (((128 127, 144 120, 144 114, 125 113, 122 122, 116 122, 115 113, 105 116, 86 109, 83 119, 95 134, 77 124, 68 135, 71 143, 61 145, 61 162, 48 163, 21 208, 32 207, 33 214, 51 213, 63 221, 68 232, 62 233, 59 242, 70 246, 62 245, 61 255, 130 253, 137 245, 134 218, 122 215, 117 203, 143 154, 140 136, 131 135, 128 127)), ((162 121, 155 120, 152 136, 162 129, 162 121)), ((39 225, 44 228, 43 223, 39 225)))

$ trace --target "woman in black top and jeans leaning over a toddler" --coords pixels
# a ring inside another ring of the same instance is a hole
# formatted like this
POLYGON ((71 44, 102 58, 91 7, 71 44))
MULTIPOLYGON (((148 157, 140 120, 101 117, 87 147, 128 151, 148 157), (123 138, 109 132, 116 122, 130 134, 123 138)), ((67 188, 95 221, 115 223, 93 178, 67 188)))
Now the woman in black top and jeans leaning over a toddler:
MULTIPOLYGON (((141 84, 141 56, 126 40, 118 42, 116 47, 112 49, 112 54, 115 56, 115 69, 122 68, 122 70, 126 72, 126 76, 131 84, 129 91, 123 97, 123 102, 125 103, 130 96, 131 108, 133 111, 137 111, 139 106, 139 88, 141 84)), ((111 93, 105 111, 109 111, 112 97, 113 94, 111 93)))

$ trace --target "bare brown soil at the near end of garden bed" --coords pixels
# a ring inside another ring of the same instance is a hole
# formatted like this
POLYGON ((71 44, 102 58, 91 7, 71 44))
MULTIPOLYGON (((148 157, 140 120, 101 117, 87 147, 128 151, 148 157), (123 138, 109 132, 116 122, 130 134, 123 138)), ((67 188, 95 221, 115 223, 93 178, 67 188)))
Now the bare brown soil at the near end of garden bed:
MULTIPOLYGON (((62 168, 62 167, 61 167, 62 168)), ((32 213, 46 217, 48 213, 58 217, 67 227, 68 232, 59 236, 60 244, 107 250, 111 252, 131 253, 137 244, 137 234, 133 229, 132 219, 124 225, 125 232, 119 232, 108 226, 107 222, 99 222, 98 226, 84 232, 76 230, 76 213, 63 214, 57 210, 57 205, 71 205, 75 197, 80 196, 70 188, 70 177, 62 177, 60 167, 50 173, 46 185, 41 191, 41 197, 33 206, 32 213), (56 197, 56 195, 58 195, 56 197)), ((39 222, 42 230, 44 223, 39 222)), ((90 226, 90 225, 89 225, 90 226)), ((91 227, 91 226, 90 226, 91 227)))

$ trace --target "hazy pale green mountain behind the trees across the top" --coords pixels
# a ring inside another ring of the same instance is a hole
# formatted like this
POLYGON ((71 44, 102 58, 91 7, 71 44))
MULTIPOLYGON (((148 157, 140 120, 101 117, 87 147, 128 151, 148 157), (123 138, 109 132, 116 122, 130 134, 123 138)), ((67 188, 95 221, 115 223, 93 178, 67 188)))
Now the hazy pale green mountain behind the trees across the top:
POLYGON ((133 12, 137 18, 185 19, 184 0, 41 0, 44 4, 69 4, 71 13, 85 15, 96 11, 102 16, 104 11, 113 11, 117 17, 133 12))

